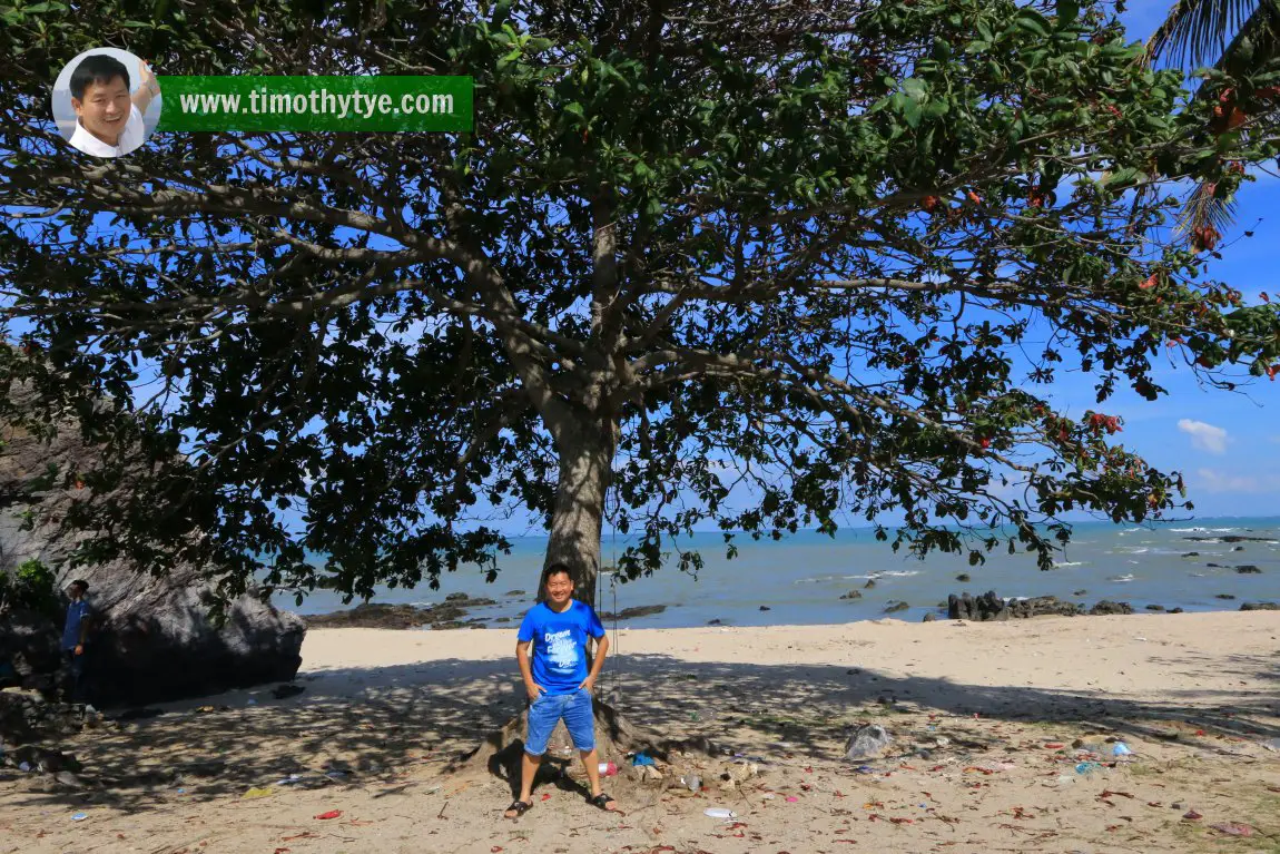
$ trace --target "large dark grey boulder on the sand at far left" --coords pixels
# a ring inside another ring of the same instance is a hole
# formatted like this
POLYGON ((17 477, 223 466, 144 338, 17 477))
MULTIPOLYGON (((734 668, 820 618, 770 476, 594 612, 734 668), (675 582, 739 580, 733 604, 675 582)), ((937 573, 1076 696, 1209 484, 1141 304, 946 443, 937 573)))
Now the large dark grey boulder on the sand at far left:
MULTIPOLYGON (((65 566, 84 536, 59 524, 79 485, 41 483, 38 475, 50 466, 92 471, 96 458, 73 420, 59 423, 51 442, 0 425, 0 572, 12 575, 35 560, 54 570, 59 589, 73 577, 88 581, 99 616, 86 668, 90 698, 97 704, 147 703, 292 679, 302 663, 303 621, 250 593, 230 604, 224 625, 211 624, 214 586, 206 567, 179 565, 155 576, 123 560, 65 566)), ((0 618, 0 668, 15 673, 20 685, 47 689, 60 663, 60 618, 6 613, 0 618)))

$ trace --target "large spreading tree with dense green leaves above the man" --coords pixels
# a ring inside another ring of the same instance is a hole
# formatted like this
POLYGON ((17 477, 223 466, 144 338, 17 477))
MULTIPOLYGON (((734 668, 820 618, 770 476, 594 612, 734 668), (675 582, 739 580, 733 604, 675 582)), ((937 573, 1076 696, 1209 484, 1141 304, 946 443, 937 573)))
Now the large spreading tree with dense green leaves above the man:
POLYGON ((705 520, 864 517, 1047 567, 1062 512, 1184 497, 1115 417, 1055 410, 1062 371, 1101 405, 1155 399, 1166 353, 1224 385, 1280 361, 1275 307, 1167 228, 1176 182, 1231 193, 1274 141, 1210 129, 1102 4, 134 5, 0 9, 8 370, 188 461, 102 507, 84 476, 95 554, 367 595, 485 560, 524 507, 590 595, 616 495, 632 576, 705 520), (46 110, 96 44, 160 73, 470 74, 475 132, 92 161, 46 110))

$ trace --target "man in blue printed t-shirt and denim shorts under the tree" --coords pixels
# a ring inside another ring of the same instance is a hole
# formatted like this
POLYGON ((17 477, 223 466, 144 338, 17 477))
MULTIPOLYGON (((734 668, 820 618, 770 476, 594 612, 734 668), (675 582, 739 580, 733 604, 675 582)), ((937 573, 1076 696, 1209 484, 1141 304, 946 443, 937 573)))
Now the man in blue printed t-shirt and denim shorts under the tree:
POLYGON ((530 702, 529 737, 525 739, 520 767, 520 799, 507 808, 507 818, 520 818, 534 805, 534 776, 561 718, 586 766, 586 778, 591 784, 588 803, 600 809, 617 808, 617 803, 600 790, 595 713, 591 708, 591 691, 604 666, 609 639, 595 609, 573 599, 573 576, 567 566, 548 566, 543 574, 543 588, 547 599, 529 609, 516 635, 516 661, 520 662, 530 702), (590 672, 586 667, 589 638, 596 640, 590 672))

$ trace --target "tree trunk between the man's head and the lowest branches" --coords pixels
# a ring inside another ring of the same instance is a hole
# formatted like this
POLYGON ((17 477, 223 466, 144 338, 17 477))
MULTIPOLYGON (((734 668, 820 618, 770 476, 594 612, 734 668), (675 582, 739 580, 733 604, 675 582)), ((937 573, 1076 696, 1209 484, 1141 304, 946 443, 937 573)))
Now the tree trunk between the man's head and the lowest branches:
MULTIPOLYGON (((609 489, 617 425, 580 421, 561 431, 559 483, 550 539, 543 567, 564 563, 573 572, 573 598, 595 607, 595 579, 600 572, 600 529, 604 495, 609 489)), ((544 598, 539 585, 538 598, 544 598)))

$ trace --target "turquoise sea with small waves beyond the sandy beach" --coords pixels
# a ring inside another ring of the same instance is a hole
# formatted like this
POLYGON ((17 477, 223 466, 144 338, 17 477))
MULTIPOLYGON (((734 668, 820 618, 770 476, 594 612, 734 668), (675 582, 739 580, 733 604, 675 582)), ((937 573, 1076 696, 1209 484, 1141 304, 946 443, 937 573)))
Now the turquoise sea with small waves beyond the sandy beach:
MULTIPOLYGON (((870 529, 841 530, 835 538, 801 531, 781 542, 740 535, 733 560, 724 558, 721 534, 695 534, 678 545, 703 553, 707 566, 701 572, 692 576, 672 566, 636 581, 603 577, 598 608, 616 612, 666 604, 666 612, 625 625, 678 627, 712 620, 737 626, 874 620, 884 616, 891 602, 910 606, 893 617, 919 621, 927 612, 937 612, 948 593, 964 590, 995 590, 1005 598, 1053 594, 1089 606, 1098 599, 1124 600, 1139 611, 1148 604, 1235 611, 1244 602, 1280 602, 1280 517, 1197 519, 1149 526, 1078 522, 1074 531, 1057 567, 1048 572, 1036 567, 1033 554, 1010 556, 1000 549, 987 556, 984 566, 969 566, 965 556, 955 554, 931 554, 920 561, 895 554, 888 544, 876 542, 870 529), (1229 536, 1257 539, 1224 540, 1229 536), (1198 554, 1188 556, 1190 552, 1198 554), (1242 574, 1238 566, 1260 571, 1242 574), (957 581, 961 572, 972 580, 957 581), (867 589, 869 580, 876 584, 867 589), (841 600, 841 594, 854 589, 861 592, 860 599, 841 600), (1078 590, 1085 593, 1075 595, 1078 590), (1220 599, 1219 594, 1235 598, 1220 599)), ((494 584, 485 583, 480 567, 465 567, 442 576, 439 590, 426 585, 380 590, 374 602, 429 606, 449 593, 466 593, 498 600, 472 609, 467 618, 493 625, 498 617, 518 616, 532 600, 547 538, 522 536, 513 544, 513 552, 499 558, 494 584), (515 590, 526 593, 511 593, 515 590)), ((605 534, 603 563, 623 545, 622 538, 605 534)), ((351 607, 329 592, 311 594, 301 608, 285 595, 278 604, 302 613, 351 607)))

